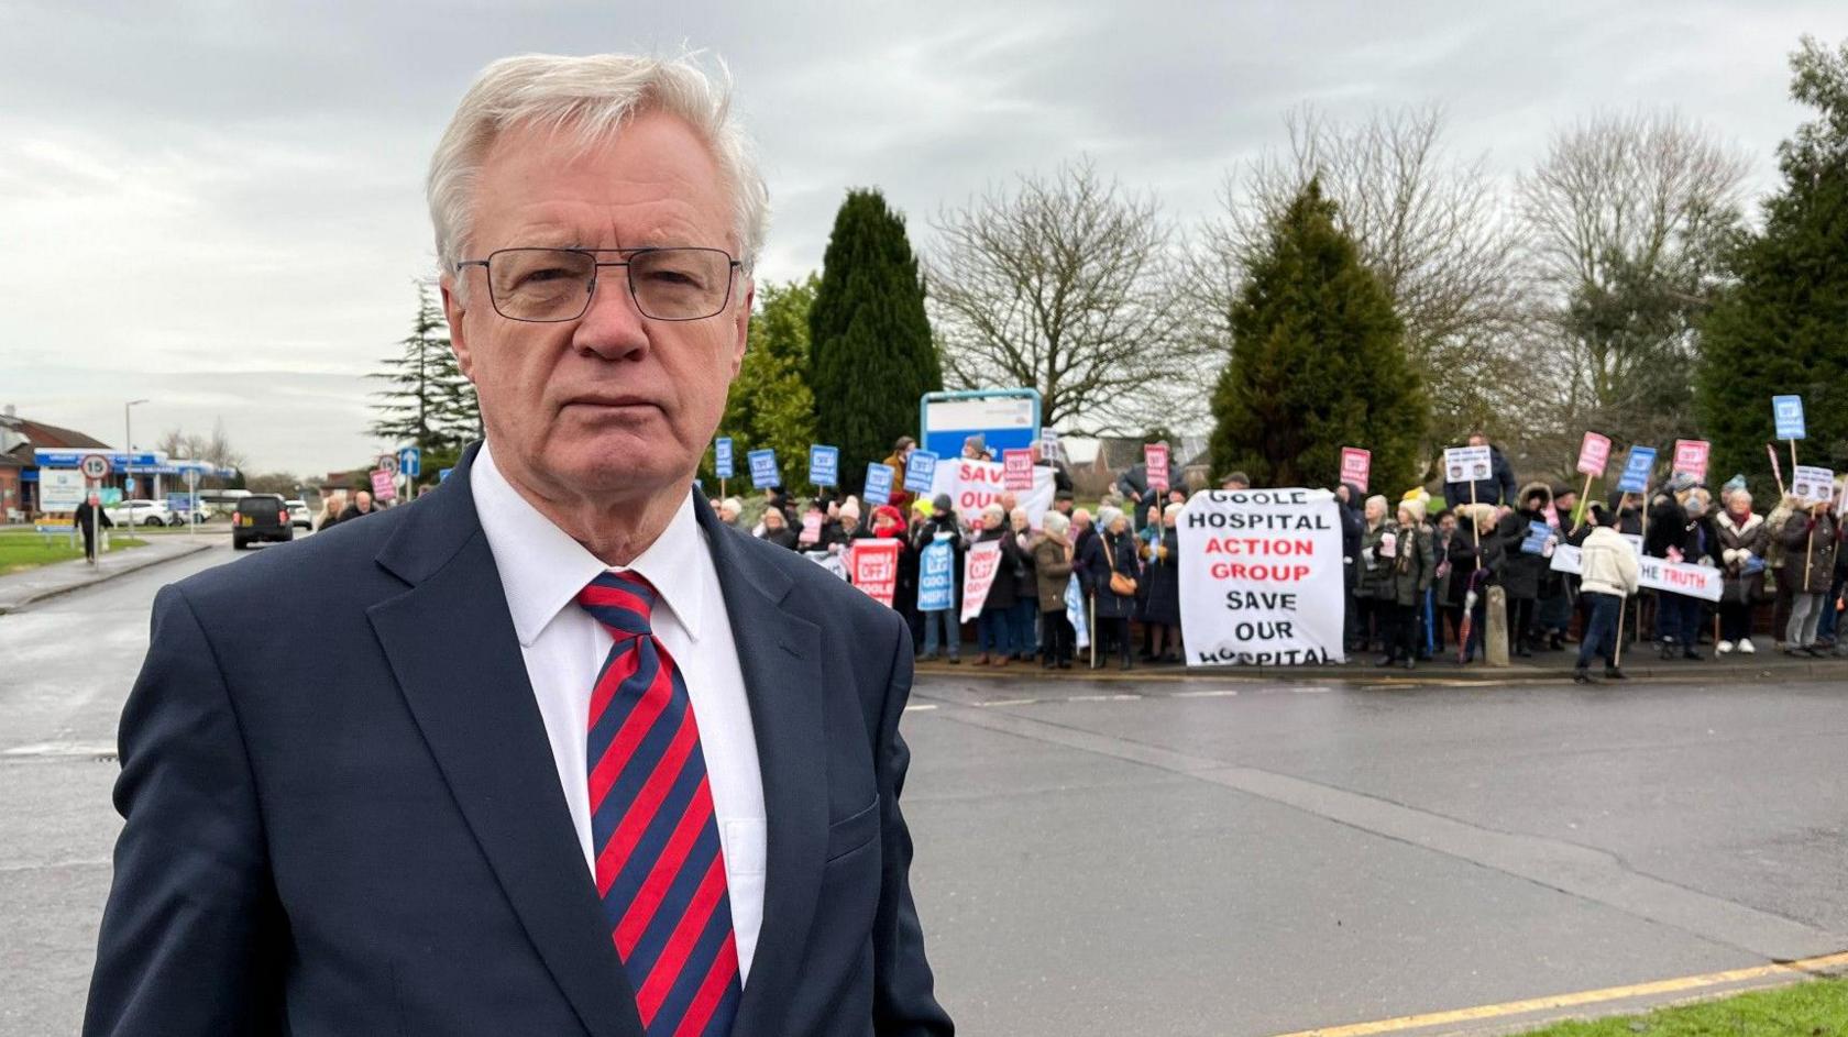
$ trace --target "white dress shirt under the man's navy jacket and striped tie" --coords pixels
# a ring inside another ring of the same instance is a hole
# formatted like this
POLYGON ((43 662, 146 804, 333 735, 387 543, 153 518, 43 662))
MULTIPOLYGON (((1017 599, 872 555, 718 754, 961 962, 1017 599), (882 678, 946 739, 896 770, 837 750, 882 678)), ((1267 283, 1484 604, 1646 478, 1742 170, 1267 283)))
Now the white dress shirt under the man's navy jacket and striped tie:
POLYGON ((699 723, 700 752, 711 784, 711 806, 724 852, 724 880, 732 897, 737 937, 737 974, 750 974, 750 958, 763 926, 763 775, 758 741, 737 665, 732 617, 719 590, 706 531, 693 516, 693 492, 680 503, 667 531, 625 567, 604 566, 514 490, 482 444, 469 471, 475 512, 501 571, 501 588, 519 636, 519 653, 553 743, 553 763, 564 786, 584 867, 595 876, 591 850, 590 780, 584 760, 590 691, 610 654, 612 638, 578 608, 577 593, 604 571, 632 571, 660 592, 654 636, 686 678, 699 723), (665 604, 665 608, 662 608, 665 604))

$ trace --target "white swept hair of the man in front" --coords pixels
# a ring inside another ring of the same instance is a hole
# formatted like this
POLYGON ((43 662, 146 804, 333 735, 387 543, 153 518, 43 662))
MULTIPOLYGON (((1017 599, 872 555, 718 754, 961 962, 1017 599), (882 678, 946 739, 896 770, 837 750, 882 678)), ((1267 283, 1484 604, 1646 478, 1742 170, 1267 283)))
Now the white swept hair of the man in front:
POLYGON ((711 152, 732 196, 737 259, 750 274, 763 251, 771 198, 750 140, 732 118, 730 87, 723 63, 715 79, 689 57, 523 54, 488 65, 462 94, 431 155, 425 194, 442 272, 455 274, 464 259, 473 231, 475 179, 501 133, 532 126, 569 133, 577 146, 590 148, 638 113, 660 111, 686 120, 711 152))

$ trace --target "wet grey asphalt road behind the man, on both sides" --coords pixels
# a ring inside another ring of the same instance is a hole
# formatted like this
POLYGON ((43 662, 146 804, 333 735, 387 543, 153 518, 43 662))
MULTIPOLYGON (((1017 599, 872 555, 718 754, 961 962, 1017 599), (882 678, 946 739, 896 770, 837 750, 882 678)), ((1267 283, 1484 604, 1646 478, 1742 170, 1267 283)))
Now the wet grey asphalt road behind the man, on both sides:
MULTIPOLYGON (((153 592, 0 616, 0 1035, 81 1017, 153 592)), ((1698 671, 1691 671, 1698 673, 1698 671)), ((906 811, 985 1035, 1262 1035, 1848 948, 1848 686, 926 677, 906 811)))

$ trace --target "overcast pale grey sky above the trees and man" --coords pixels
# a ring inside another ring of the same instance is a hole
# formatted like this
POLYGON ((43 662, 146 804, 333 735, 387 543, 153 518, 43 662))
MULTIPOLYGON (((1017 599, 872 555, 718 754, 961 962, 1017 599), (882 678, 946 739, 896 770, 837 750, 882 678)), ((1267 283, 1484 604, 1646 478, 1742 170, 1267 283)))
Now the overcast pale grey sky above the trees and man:
POLYGON ((142 444, 222 418, 261 471, 368 460, 360 375, 432 268, 429 152, 506 54, 721 55, 771 183, 760 279, 787 279, 848 187, 926 250, 939 205, 1079 153, 1210 216, 1305 102, 1440 102, 1508 177, 1574 118, 1672 107, 1757 194, 1805 31, 1848 37, 1848 4, 0 0, 0 403, 118 442, 150 397, 142 444))

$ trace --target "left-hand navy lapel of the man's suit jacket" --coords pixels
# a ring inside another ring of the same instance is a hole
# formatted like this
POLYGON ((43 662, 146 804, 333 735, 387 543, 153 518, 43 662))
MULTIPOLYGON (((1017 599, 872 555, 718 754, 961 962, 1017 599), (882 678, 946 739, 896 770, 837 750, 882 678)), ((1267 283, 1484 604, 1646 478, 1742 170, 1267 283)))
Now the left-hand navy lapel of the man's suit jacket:
POLYGON ((456 806, 560 991, 597 1037, 641 1037, 475 516, 473 460, 471 449, 386 542, 379 564, 412 590, 368 616, 456 806))

